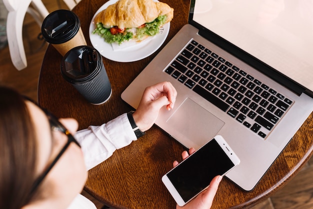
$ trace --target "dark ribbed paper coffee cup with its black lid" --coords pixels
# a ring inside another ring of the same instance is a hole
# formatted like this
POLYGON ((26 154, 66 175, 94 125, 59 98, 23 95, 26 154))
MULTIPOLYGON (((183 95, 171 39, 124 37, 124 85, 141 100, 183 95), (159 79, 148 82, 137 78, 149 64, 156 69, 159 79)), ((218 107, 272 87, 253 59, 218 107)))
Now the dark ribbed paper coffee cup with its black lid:
POLYGON ((100 53, 91 46, 70 49, 61 61, 61 74, 86 100, 102 104, 112 94, 100 53))

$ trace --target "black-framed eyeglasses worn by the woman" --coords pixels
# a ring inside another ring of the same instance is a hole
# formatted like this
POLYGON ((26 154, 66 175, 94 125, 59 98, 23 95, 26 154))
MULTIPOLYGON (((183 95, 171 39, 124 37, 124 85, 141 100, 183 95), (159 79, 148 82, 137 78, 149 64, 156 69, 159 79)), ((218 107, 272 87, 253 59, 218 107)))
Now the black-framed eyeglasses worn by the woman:
MULTIPOLYGON (((32 100, 26 98, 27 100, 33 102, 32 100)), ((34 104, 36 104, 35 102, 33 102, 34 104)), ((36 104, 37 105, 37 104, 36 104)), ((38 106, 38 105, 37 105, 38 106)), ((50 123, 50 127, 51 127, 51 132, 52 132, 52 140, 53 140, 53 132, 58 132, 61 134, 65 134, 67 136, 67 142, 64 144, 64 146, 59 150, 59 152, 56 154, 55 158, 52 160, 52 162, 49 164, 49 166, 44 170, 43 173, 41 173, 38 178, 34 181, 31 190, 30 190, 30 194, 32 194, 39 186, 39 184, 42 182, 42 180, 44 179, 44 177, 48 174, 48 172, 51 170, 51 168, 55 165, 55 163, 57 162, 57 160, 61 157, 61 155, 64 153, 64 151, 66 150, 66 148, 69 146, 69 144, 71 142, 74 142, 75 144, 77 144, 77 146, 81 147, 80 144, 78 143, 78 141, 72 136, 72 134, 64 127, 64 125, 62 123, 60 123, 58 121, 58 119, 52 115, 50 112, 48 112, 47 110, 41 108, 40 106, 38 106, 40 109, 42 109, 42 111, 46 114, 48 121, 50 123)), ((53 145, 53 144, 52 144, 53 145)))

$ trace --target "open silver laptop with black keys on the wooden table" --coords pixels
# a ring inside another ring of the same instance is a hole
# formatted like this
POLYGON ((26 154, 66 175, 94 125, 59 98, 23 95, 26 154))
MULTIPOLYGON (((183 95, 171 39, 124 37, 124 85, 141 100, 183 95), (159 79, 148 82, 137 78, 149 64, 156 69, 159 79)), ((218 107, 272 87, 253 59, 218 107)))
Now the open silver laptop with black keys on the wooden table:
MULTIPOLYGON (((313 110, 313 21, 303 1, 191 0, 188 24, 122 92, 171 82, 155 124, 185 147, 222 135, 240 158, 226 176, 252 190, 313 110)), ((175 17, 174 17, 175 18, 175 17)))

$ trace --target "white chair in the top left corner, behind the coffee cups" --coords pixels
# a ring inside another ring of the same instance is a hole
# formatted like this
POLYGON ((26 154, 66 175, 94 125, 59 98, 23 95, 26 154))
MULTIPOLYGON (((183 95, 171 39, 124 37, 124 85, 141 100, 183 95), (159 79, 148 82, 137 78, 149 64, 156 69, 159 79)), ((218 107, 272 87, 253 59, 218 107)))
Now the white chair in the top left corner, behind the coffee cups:
POLYGON ((6 20, 7 42, 11 60, 16 69, 27 66, 22 39, 22 26, 26 12, 31 14, 41 28, 43 19, 49 14, 41 0, 3 0, 8 10, 6 20), (29 7, 29 5, 32 7, 29 7))

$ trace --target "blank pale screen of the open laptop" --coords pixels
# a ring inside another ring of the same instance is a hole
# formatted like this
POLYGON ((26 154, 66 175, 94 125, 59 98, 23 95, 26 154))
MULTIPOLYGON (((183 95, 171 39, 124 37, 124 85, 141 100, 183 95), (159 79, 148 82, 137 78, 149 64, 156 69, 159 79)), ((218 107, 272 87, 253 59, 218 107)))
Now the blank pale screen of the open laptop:
POLYGON ((190 14, 192 21, 313 91, 313 0, 192 0, 190 14))

